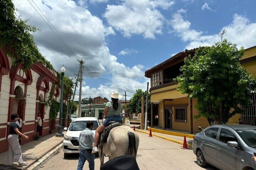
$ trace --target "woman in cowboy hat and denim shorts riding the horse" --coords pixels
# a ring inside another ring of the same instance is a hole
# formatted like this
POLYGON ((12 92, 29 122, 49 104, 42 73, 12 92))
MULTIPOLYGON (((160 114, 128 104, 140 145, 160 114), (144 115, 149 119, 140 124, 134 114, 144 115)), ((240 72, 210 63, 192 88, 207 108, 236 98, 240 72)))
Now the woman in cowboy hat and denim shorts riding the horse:
POLYGON ((92 148, 92 153, 98 152, 97 146, 98 146, 98 142, 100 140, 100 134, 103 132, 103 130, 107 126, 107 124, 111 121, 116 121, 116 122, 122 123, 122 117, 120 115, 121 111, 122 111, 122 104, 120 102, 118 102, 118 99, 122 98, 123 96, 118 94, 117 91, 113 91, 110 97, 111 97, 112 101, 107 102, 106 107, 104 109, 104 117, 103 118, 105 120, 95 131, 94 147, 92 148))

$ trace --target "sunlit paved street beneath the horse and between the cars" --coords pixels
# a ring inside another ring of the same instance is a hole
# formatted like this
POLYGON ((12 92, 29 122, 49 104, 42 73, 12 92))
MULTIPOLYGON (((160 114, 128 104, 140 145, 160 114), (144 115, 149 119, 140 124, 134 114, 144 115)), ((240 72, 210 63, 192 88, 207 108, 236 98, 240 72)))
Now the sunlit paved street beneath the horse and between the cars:
MULTIPOLYGON (((201 168, 197 165, 193 150, 182 150, 180 145, 160 139, 157 137, 149 138, 147 134, 137 132, 140 138, 137 162, 140 170, 158 170, 158 169, 207 169, 217 170, 212 166, 201 168)), ((74 154, 64 159, 63 151, 59 151, 53 158, 46 162, 40 170, 70 170, 76 169, 78 163, 78 154, 74 154)), ((105 158, 105 162, 108 158, 105 158)), ((95 159, 95 169, 99 169, 99 158, 95 159)), ((88 162, 84 169, 88 169, 88 162)))

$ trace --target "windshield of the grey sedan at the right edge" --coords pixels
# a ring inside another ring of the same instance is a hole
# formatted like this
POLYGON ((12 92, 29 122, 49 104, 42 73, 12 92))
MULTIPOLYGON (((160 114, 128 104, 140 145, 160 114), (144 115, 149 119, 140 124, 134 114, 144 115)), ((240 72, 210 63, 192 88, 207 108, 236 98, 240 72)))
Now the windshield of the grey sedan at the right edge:
POLYGON ((236 130, 239 136, 245 141, 249 147, 256 147, 256 130, 246 129, 246 130, 236 130))

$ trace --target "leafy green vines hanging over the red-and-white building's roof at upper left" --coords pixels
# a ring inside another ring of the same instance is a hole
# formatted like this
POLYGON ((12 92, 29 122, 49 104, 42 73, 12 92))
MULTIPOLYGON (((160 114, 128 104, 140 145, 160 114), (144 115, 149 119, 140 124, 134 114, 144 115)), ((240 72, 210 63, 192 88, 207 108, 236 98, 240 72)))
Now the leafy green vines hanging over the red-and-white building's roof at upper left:
POLYGON ((30 33, 38 29, 27 25, 29 20, 16 16, 16 10, 11 0, 0 0, 0 49, 5 49, 12 59, 21 61, 25 70, 38 62, 53 70, 51 63, 38 50, 30 33))

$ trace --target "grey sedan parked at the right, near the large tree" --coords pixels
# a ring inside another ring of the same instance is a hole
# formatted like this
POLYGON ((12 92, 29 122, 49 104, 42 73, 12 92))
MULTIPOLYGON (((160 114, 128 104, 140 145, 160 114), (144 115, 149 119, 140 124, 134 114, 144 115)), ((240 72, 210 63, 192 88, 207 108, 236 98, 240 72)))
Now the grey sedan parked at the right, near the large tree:
POLYGON ((256 169, 255 126, 213 125, 196 134, 192 145, 201 167, 209 163, 225 170, 256 169))

